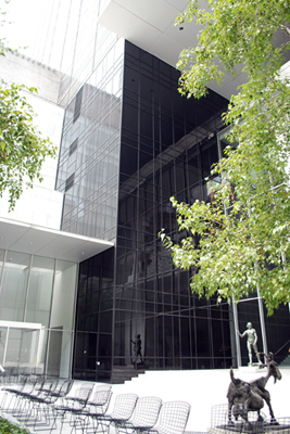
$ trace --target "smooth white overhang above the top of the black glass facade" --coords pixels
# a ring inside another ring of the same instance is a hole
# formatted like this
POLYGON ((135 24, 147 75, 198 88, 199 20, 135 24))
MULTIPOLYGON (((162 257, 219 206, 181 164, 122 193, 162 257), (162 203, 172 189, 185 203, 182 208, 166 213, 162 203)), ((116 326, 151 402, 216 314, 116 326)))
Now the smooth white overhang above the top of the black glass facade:
MULTIPOLYGON (((204 0, 200 4, 207 9, 204 0)), ((186 5, 187 0, 109 0, 101 10, 99 24, 176 67, 180 52, 197 46, 202 29, 193 22, 185 23, 182 29, 174 25, 186 5)), ((279 44, 281 38, 277 35, 275 43, 279 44)), ((289 50, 286 54, 286 60, 290 60, 289 50)), ((247 75, 241 69, 237 68, 235 78, 226 75, 222 88, 217 82, 209 84, 209 88, 230 99, 237 87, 245 82, 247 75)))

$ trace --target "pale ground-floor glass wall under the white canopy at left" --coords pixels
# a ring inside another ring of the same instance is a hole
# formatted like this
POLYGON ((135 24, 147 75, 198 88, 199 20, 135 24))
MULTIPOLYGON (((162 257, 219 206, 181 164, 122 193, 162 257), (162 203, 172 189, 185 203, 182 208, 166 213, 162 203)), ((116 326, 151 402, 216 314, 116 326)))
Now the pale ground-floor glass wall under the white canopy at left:
POLYGON ((0 363, 70 378, 77 265, 0 254, 0 363))

